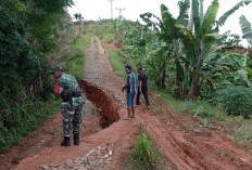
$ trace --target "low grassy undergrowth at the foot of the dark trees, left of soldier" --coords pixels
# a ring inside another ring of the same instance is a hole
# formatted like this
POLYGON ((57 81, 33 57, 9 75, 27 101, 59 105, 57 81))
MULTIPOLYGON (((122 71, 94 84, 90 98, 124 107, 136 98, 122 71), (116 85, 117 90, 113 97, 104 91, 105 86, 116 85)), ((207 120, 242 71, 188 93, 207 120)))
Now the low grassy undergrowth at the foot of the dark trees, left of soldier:
POLYGON ((8 119, 0 122, 0 153, 7 152, 13 144, 18 144, 23 135, 33 132, 48 118, 54 118, 61 100, 49 95, 47 102, 42 101, 24 101, 4 109, 8 119))

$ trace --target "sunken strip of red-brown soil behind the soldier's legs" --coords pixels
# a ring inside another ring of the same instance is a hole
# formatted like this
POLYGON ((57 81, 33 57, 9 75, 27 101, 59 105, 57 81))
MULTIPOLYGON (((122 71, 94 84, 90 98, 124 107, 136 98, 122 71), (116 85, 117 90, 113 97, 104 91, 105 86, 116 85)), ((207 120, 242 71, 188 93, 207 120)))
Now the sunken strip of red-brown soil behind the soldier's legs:
MULTIPOLYGON (((102 130, 100 126, 100 116, 91 115, 83 120, 81 135, 90 135, 102 130)), ((8 170, 15 166, 18 159, 26 157, 36 157, 39 152, 58 146, 62 141, 62 115, 59 112, 54 119, 46 121, 33 134, 23 139, 22 143, 12 146, 10 152, 0 157, 0 170, 8 170), (16 160, 15 160, 16 159, 16 160)))

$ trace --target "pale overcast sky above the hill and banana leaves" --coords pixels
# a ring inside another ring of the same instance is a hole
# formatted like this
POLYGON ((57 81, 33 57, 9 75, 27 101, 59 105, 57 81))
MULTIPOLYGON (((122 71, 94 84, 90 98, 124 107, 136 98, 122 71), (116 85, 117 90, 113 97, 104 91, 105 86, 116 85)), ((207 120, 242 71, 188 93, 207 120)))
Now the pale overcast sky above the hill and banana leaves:
MULTIPOLYGON (((73 16, 74 13, 81 13, 85 21, 98 21, 99 18, 111 18, 111 0, 74 0, 75 5, 68 8, 70 14, 73 16)), ((113 1, 113 17, 118 17, 119 10, 116 9, 125 9, 122 11, 122 15, 127 19, 131 21, 141 21, 139 17, 140 14, 146 12, 151 12, 158 16, 160 16, 160 5, 164 3, 169 12, 174 15, 178 15, 178 0, 112 0, 113 1)), ((217 18, 222 16, 226 11, 231 9, 236 3, 240 0, 219 0, 219 10, 217 14, 217 18)), ((207 10, 207 6, 211 4, 212 0, 204 0, 204 11, 207 10)), ((241 8, 230 17, 228 17, 225 26, 222 27, 220 31, 231 30, 232 34, 241 34, 241 28, 239 25, 239 17, 241 15, 245 15, 245 17, 252 23, 252 3, 248 6, 241 8)), ((247 41, 242 41, 243 45, 247 45, 247 41)))

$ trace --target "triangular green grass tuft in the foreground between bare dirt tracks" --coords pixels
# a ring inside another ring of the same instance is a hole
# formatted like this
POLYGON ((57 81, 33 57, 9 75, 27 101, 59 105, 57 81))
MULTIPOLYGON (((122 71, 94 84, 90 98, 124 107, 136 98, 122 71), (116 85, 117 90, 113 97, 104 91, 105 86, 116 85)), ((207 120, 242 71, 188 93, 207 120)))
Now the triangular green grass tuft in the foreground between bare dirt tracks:
POLYGON ((137 142, 133 144, 133 151, 126 156, 122 168, 130 170, 166 169, 167 165, 154 147, 143 126, 139 128, 137 142))

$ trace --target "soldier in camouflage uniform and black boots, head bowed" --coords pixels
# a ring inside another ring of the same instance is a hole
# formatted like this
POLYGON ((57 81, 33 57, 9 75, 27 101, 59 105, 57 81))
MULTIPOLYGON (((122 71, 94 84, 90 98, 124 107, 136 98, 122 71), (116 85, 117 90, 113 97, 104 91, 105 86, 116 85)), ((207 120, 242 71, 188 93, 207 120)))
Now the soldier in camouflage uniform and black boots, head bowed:
POLYGON ((84 99, 80 94, 80 89, 76 79, 63 73, 61 66, 55 66, 51 74, 54 77, 54 92, 56 95, 61 95, 62 102, 62 115, 63 115, 63 134, 64 141, 62 146, 70 146, 70 136, 72 131, 74 133, 74 144, 79 145, 79 131, 81 125, 81 109, 84 105, 84 99))

